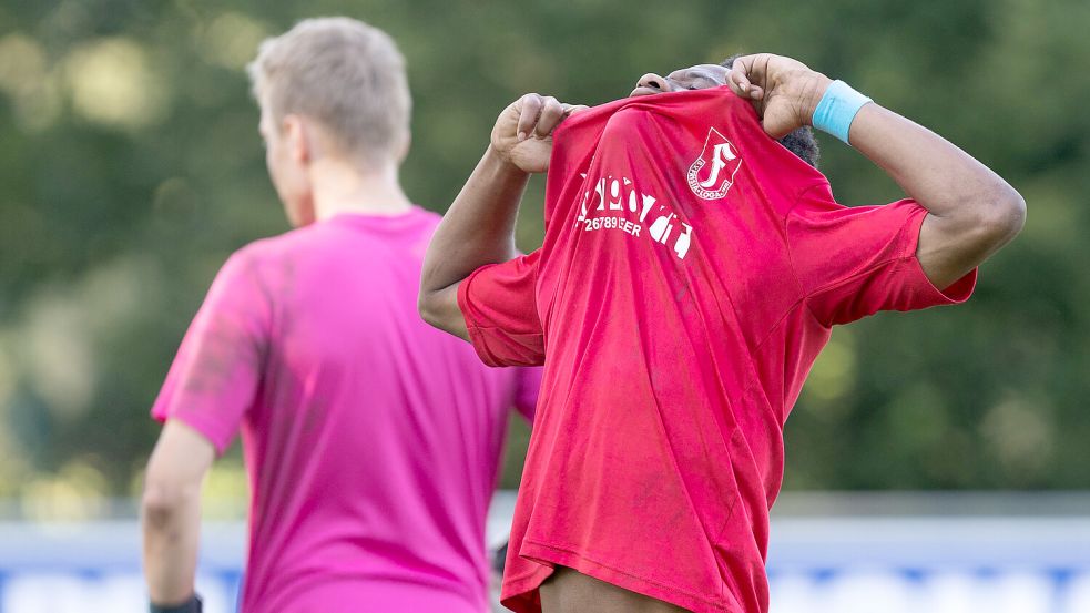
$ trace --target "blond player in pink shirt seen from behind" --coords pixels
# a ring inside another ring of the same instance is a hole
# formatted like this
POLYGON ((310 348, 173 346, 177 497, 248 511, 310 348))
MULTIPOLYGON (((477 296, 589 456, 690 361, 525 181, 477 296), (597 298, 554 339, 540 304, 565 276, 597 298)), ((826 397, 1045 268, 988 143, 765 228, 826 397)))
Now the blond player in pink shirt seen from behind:
POLYGON ((492 369, 425 324, 439 216, 398 183, 404 61, 379 30, 299 23, 251 65, 268 172, 297 229, 220 272, 152 415, 144 561, 153 612, 200 610, 200 492, 242 432, 253 500, 240 610, 489 610, 485 523, 508 411, 536 370, 492 369))

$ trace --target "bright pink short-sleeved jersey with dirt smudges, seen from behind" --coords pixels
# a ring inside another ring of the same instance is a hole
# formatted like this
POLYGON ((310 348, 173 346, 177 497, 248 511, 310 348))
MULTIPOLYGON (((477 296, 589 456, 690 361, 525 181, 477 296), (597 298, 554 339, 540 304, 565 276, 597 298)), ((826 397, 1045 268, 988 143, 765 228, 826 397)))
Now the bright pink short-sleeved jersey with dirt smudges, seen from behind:
POLYGON ((488 609, 485 519, 538 372, 487 368, 420 320, 438 222, 340 215, 258 241, 182 343, 152 415, 221 453, 242 430, 245 613, 488 609))

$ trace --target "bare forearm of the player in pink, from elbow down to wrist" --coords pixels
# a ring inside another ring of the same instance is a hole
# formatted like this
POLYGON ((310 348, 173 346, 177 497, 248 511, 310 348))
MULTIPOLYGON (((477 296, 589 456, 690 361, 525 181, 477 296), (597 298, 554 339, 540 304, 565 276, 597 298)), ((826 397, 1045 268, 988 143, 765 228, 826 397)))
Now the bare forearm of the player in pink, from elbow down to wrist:
POLYGON ((176 604, 193 595, 201 532, 200 489, 177 495, 149 490, 143 504, 144 576, 151 601, 176 604))

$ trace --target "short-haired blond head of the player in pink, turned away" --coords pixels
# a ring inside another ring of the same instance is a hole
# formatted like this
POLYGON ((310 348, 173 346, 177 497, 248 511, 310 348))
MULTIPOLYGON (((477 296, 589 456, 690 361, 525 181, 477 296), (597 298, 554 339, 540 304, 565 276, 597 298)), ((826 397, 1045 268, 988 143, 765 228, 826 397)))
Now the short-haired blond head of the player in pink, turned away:
POLYGON ((262 109, 265 161, 293 225, 314 221, 309 170, 319 160, 386 173, 409 144, 405 59, 381 30, 308 19, 267 39, 248 67, 262 109))

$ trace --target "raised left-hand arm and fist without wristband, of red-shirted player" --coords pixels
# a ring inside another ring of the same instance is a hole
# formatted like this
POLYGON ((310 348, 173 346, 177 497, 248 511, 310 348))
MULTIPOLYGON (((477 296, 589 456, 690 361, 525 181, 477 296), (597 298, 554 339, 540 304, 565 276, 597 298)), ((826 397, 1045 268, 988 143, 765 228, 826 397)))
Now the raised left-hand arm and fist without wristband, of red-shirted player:
POLYGON ((420 277, 420 315, 468 339, 458 284, 486 264, 515 258, 515 221, 531 173, 549 168, 552 131, 577 106, 527 94, 500 113, 477 168, 436 229, 420 277))

